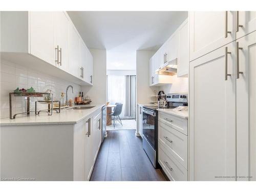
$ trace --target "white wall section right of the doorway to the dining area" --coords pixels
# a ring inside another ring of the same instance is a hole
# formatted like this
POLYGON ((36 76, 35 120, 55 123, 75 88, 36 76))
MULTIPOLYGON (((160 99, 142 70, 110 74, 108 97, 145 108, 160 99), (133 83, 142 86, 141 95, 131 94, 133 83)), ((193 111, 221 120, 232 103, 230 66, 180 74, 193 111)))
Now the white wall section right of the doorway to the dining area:
POLYGON ((137 80, 137 103, 149 103, 152 101, 154 90, 158 93, 157 87, 150 87, 149 60, 155 54, 155 51, 137 51, 136 54, 136 80, 137 80))

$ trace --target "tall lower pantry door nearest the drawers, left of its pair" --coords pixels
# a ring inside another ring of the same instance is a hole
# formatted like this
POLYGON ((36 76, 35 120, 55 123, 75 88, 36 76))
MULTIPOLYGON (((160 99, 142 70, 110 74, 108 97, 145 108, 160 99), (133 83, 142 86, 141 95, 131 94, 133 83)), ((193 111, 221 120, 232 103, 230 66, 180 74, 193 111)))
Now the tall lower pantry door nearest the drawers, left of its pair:
POLYGON ((235 58, 232 42, 189 64, 189 180, 236 180, 235 58))

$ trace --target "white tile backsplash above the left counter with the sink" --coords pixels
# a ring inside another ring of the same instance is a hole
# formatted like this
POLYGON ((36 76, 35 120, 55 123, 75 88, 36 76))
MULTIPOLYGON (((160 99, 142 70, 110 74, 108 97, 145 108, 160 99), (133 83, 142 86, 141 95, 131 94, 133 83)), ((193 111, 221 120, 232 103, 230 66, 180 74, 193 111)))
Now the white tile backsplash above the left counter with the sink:
MULTIPOLYGON (((68 92, 69 98, 74 98, 81 91, 81 86, 60 78, 49 76, 41 71, 33 71, 16 63, 1 60, 1 88, 0 88, 0 118, 9 118, 9 93, 17 87, 19 89, 28 89, 33 87, 38 92, 52 90, 53 98, 59 100, 60 93, 66 93, 67 87, 71 84, 74 88, 74 94, 71 89, 68 92)), ((34 111, 35 100, 31 98, 31 111, 34 111)), ((42 99, 42 98, 41 98, 42 99)), ((66 95, 65 95, 66 99, 66 95)), ((12 100, 12 114, 26 112, 26 100, 24 97, 15 97, 12 100)))

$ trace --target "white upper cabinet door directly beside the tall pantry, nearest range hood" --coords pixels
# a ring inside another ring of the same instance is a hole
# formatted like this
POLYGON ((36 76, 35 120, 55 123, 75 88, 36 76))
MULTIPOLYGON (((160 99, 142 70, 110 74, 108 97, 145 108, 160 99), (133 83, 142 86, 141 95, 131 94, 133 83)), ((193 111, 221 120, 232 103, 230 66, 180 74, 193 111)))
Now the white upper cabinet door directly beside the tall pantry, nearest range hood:
POLYGON ((189 64, 188 20, 178 29, 177 77, 187 77, 189 64))

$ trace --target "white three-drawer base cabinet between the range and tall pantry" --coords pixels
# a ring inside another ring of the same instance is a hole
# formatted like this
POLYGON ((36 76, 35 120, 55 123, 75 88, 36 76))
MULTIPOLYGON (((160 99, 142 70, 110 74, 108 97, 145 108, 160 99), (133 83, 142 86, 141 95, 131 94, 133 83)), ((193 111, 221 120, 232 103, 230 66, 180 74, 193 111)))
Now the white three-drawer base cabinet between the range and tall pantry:
MULTIPOLYGON (((188 137, 173 123, 174 115, 159 112, 158 118, 158 162, 172 181, 188 180, 188 137), (172 124, 173 123, 173 124, 172 124), (175 126, 174 126, 175 125, 175 126)), ((180 118, 187 130, 187 119, 180 118)), ((185 132, 187 133, 187 132, 185 132)))

